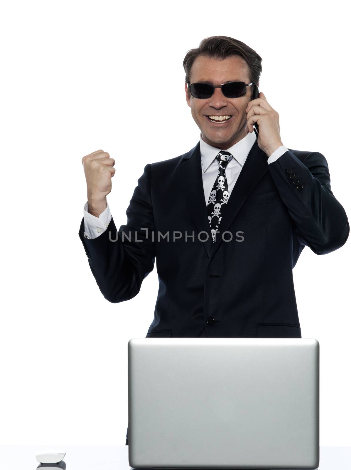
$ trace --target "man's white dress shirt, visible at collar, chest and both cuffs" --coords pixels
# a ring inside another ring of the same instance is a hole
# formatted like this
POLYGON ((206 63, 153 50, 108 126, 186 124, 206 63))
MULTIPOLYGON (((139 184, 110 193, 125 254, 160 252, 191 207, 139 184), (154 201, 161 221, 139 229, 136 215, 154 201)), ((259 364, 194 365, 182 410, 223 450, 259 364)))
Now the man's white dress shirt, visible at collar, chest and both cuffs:
MULTIPOLYGON (((232 158, 229 164, 226 166, 226 176, 228 182, 228 192, 229 197, 234 185, 238 179, 238 176, 241 172, 241 169, 244 166, 245 160, 249 155, 249 152, 252 148, 252 145, 256 141, 256 134, 254 131, 251 133, 247 133, 246 136, 238 141, 236 144, 229 147, 229 149, 222 149, 226 150, 227 152, 231 153, 234 158, 232 158)), ((200 155, 201 155, 201 166, 202 166, 202 182, 204 185, 204 197, 206 204, 210 197, 211 189, 213 188, 214 181, 217 178, 219 163, 215 159, 218 155, 218 152, 221 149, 217 147, 213 147, 212 145, 207 144, 202 140, 201 133, 200 133, 200 155)), ((288 149, 285 145, 280 146, 276 149, 272 155, 269 156, 267 163, 273 163, 279 157, 281 157, 288 149)), ((107 207, 106 209, 101 212, 99 217, 95 217, 94 215, 88 212, 88 202, 84 205, 84 236, 88 239, 97 238, 99 235, 104 232, 108 224, 111 221, 111 212, 110 208, 107 207)))

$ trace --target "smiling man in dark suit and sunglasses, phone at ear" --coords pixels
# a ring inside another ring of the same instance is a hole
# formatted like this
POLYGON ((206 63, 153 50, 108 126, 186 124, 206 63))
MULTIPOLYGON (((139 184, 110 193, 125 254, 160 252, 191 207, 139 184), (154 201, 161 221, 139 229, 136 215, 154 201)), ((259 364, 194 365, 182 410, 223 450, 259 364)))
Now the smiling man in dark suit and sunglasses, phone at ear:
POLYGON ((145 165, 118 231, 106 199, 114 159, 83 157, 79 236, 92 274, 107 300, 123 302, 157 257, 147 337, 301 337, 292 269, 306 245, 326 254, 350 231, 327 160, 282 144, 278 113, 256 87, 261 58, 244 43, 206 38, 183 66, 200 141, 145 165))

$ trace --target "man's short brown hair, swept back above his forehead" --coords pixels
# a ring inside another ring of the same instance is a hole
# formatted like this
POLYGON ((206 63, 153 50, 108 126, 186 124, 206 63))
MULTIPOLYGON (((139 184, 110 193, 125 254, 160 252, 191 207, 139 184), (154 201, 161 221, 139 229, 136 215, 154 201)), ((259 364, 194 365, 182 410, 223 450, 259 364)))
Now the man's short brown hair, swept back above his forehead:
POLYGON ((214 59, 226 59, 232 55, 240 55, 249 67, 249 81, 256 85, 259 83, 262 71, 262 58, 251 47, 246 46, 244 42, 238 39, 229 38, 229 36, 210 36, 209 38, 202 39, 199 46, 196 49, 189 50, 184 57, 183 68, 186 83, 190 81, 192 64, 199 55, 214 59))

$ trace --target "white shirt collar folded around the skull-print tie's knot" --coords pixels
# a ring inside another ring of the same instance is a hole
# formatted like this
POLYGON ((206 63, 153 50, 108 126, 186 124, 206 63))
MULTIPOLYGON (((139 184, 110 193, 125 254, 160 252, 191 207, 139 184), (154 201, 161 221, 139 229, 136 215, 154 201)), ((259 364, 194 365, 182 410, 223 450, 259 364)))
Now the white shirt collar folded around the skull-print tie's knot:
POLYGON ((237 162, 241 166, 244 166, 245 160, 249 155, 252 145, 255 143, 256 139, 257 137, 255 131, 251 133, 249 132, 243 139, 241 139, 241 141, 238 141, 236 144, 229 147, 229 149, 218 149, 217 147, 213 147, 212 145, 203 141, 200 133, 200 155, 204 172, 206 172, 206 169, 214 161, 215 157, 218 155, 218 152, 221 150, 226 150, 227 152, 231 153, 237 162))

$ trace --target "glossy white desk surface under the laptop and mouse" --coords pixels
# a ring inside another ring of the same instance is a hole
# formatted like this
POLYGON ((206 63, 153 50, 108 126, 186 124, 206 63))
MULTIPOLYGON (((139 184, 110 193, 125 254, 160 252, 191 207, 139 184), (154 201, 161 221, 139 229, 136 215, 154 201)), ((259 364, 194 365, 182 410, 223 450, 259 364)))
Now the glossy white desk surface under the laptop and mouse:
MULTIPOLYGON (((36 454, 66 452, 66 470, 130 470, 128 446, 0 446, 0 469, 35 470, 36 454)), ((319 470, 350 470, 351 447, 320 447, 319 470)), ((275 469, 278 470, 278 469, 275 469)))

